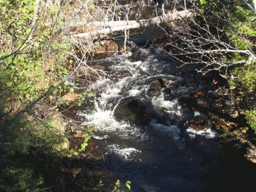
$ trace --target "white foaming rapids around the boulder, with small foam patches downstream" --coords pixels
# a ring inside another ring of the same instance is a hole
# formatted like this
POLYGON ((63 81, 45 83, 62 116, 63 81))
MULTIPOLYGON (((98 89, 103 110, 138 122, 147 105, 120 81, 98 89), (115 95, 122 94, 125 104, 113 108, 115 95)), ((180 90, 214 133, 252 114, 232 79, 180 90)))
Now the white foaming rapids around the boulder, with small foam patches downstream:
MULTIPOLYGON (((145 61, 131 61, 129 57, 131 53, 127 55, 118 55, 114 58, 106 58, 106 61, 111 61, 112 65, 109 67, 111 73, 116 74, 117 81, 112 81, 109 78, 102 77, 97 79, 95 83, 90 85, 90 90, 95 94, 94 100, 90 101, 90 105, 93 105, 92 111, 79 111, 78 115, 83 118, 83 125, 90 125, 99 130, 101 134, 104 134, 105 138, 110 135, 118 135, 122 138, 136 138, 139 140, 150 140, 152 136, 148 133, 148 129, 154 130, 154 132, 163 132, 170 137, 170 140, 180 142, 180 128, 176 123, 172 123, 172 118, 182 118, 182 106, 180 106, 177 99, 166 99, 166 95, 163 93, 164 88, 159 90, 159 94, 156 96, 149 96, 148 90, 150 89, 150 83, 155 79, 166 78, 168 83, 166 87, 172 86, 173 83, 180 81, 180 77, 168 75, 168 71, 172 67, 172 63, 168 63, 168 60, 158 60, 156 54, 152 54, 146 49, 140 49, 140 54, 145 61), (163 65, 165 65, 163 67, 163 65), (140 67, 138 69, 138 67, 140 67), (167 70, 166 70, 167 69, 167 70), (120 100, 125 97, 143 97, 150 102, 154 108, 154 113, 161 116, 169 116, 170 119, 165 118, 162 122, 158 122, 154 117, 147 125, 143 125, 144 129, 141 129, 141 125, 132 124, 131 122, 123 119, 116 120, 114 111, 120 100)), ((189 88, 181 86, 177 92, 186 92, 189 88), (180 90, 179 90, 180 89, 180 90)), ((200 115, 196 113, 196 115, 200 115)), ((209 130, 195 131, 188 129, 187 133, 192 138, 196 135, 202 135, 209 138, 214 138, 216 134, 209 130)), ((99 138, 97 134, 95 138, 99 138)), ((128 160, 131 154, 141 152, 133 147, 120 146, 119 144, 111 144, 109 146, 107 154, 116 153, 118 156, 123 156, 128 160), (118 146, 118 147, 117 147, 118 146), (124 152, 125 151, 125 152, 124 152)), ((143 153, 143 151, 142 151, 143 153)))

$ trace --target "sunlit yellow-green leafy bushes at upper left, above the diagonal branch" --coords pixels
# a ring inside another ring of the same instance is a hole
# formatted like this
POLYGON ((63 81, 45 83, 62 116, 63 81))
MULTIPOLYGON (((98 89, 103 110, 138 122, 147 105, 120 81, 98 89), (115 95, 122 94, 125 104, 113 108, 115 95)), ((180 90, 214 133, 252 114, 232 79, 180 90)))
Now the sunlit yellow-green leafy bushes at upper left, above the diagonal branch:
MULTIPOLYGON (((49 26, 41 12, 35 12, 35 1, 0 2, 1 90, 8 91, 8 100, 20 100, 26 104, 42 95, 48 84, 58 81, 68 71, 63 67, 70 43, 67 36, 57 33, 61 19, 49 26), (36 15, 39 14, 39 15, 36 15), (44 20, 45 19, 45 20, 44 20)), ((55 9, 44 10, 49 17, 55 9)), ((0 90, 0 91, 1 91, 0 90)))

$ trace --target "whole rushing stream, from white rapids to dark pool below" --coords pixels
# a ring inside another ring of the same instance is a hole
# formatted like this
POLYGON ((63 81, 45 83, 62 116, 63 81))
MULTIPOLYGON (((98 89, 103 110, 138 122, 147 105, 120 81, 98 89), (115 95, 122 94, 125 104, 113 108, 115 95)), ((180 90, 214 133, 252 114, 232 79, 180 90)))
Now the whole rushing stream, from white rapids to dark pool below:
POLYGON ((179 102, 209 84, 180 75, 184 68, 160 49, 131 51, 97 63, 108 63, 109 76, 90 84, 95 97, 78 112, 83 125, 99 130, 105 168, 130 180, 132 191, 212 191, 218 134, 186 127, 202 114, 179 102))

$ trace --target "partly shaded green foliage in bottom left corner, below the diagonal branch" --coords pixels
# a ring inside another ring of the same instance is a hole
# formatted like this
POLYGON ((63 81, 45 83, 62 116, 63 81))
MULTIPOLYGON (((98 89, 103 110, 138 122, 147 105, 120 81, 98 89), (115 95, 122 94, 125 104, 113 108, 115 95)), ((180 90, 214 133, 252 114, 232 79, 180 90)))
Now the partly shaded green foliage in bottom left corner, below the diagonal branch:
POLYGON ((7 129, 0 143, 0 191, 39 191, 44 187, 49 177, 45 170, 54 172, 54 161, 60 158, 52 152, 68 147, 61 126, 45 117, 44 124, 31 119, 7 129))

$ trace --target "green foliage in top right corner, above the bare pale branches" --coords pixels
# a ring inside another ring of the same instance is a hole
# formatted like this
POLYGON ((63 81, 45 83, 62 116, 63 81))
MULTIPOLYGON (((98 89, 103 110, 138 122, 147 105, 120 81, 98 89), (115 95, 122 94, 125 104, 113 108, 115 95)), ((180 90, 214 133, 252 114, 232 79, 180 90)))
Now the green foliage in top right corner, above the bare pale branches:
POLYGON ((223 42, 231 43, 237 49, 248 49, 255 45, 255 13, 243 1, 200 0, 199 6, 208 25, 225 32, 225 36, 221 36, 223 42))

